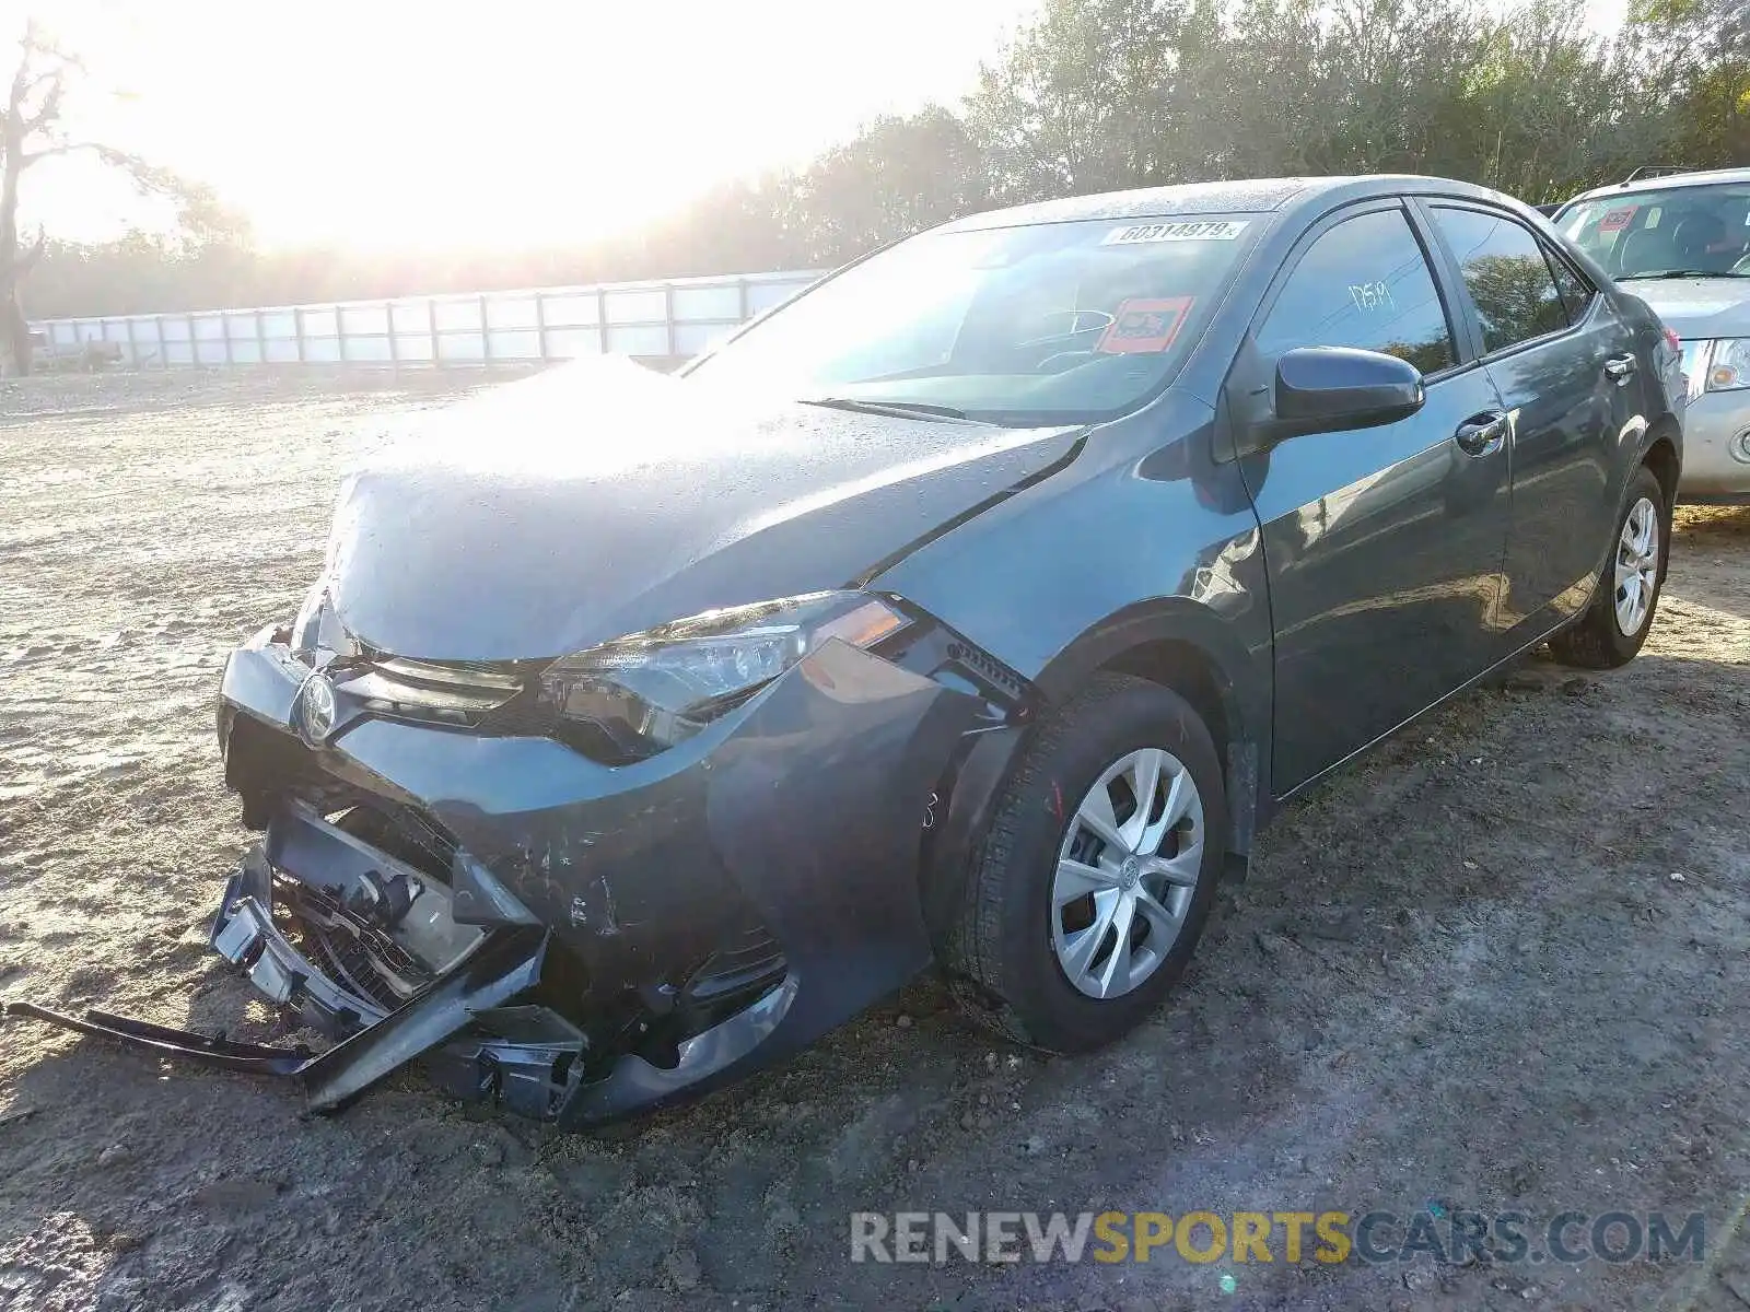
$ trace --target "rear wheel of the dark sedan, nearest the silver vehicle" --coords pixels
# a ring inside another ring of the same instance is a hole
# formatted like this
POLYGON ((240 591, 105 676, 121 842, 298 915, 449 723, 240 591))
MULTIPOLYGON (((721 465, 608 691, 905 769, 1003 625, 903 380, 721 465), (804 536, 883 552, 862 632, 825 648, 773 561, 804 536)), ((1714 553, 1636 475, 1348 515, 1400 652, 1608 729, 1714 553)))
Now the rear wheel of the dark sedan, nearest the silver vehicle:
POLYGON ((1617 518, 1610 560, 1586 614, 1550 639, 1550 651, 1564 665, 1614 670, 1628 665, 1647 642, 1659 586, 1671 546, 1670 507, 1664 488, 1642 465, 1629 479, 1628 502, 1617 518))

